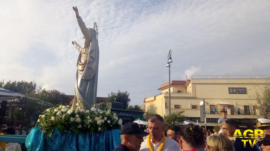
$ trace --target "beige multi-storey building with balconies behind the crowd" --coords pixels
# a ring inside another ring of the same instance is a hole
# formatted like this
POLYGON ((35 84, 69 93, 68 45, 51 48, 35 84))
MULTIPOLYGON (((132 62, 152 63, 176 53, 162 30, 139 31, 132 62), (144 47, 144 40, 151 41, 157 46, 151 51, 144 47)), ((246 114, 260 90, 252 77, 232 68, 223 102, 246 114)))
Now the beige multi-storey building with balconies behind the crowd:
MULTIPOLYGON (((226 106, 227 118, 261 118, 256 106, 256 92, 270 85, 270 76, 191 76, 186 81, 170 81, 171 112, 185 111, 188 120, 200 121, 200 102, 205 99, 208 126, 215 126, 219 112, 226 106), (238 108, 239 107, 239 108, 238 108), (216 110, 214 110, 214 108, 216 110)), ((145 98, 145 110, 161 116, 169 114, 169 83, 162 84, 161 93, 145 98)), ((200 123, 200 122, 199 122, 200 123)), ((248 122, 247 122, 248 123, 248 122)), ((249 122, 250 123, 250 122, 249 122)), ((202 124, 202 123, 200 123, 202 124)))

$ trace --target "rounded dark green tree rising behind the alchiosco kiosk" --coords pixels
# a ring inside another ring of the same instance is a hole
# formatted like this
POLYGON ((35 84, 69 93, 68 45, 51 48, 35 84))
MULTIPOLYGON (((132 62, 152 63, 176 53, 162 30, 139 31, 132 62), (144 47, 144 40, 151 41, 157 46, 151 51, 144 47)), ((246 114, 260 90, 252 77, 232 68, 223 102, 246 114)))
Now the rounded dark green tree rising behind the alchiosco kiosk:
POLYGON ((120 90, 118 90, 118 92, 108 93, 108 97, 104 101, 105 102, 113 102, 114 100, 116 102, 124 103, 123 109, 126 109, 128 107, 129 102, 131 101, 129 98, 128 91, 121 92, 120 90), (115 100, 115 98, 116 98, 116 100, 115 100))

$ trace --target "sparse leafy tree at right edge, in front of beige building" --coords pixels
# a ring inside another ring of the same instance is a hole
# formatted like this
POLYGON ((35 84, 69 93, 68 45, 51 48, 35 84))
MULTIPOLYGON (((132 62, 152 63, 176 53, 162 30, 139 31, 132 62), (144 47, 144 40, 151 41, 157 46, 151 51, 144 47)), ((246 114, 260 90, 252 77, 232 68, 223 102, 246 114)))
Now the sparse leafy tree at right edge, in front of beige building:
POLYGON ((255 97, 261 115, 266 119, 270 119, 270 87, 268 86, 264 90, 262 89, 262 93, 256 91, 255 97))

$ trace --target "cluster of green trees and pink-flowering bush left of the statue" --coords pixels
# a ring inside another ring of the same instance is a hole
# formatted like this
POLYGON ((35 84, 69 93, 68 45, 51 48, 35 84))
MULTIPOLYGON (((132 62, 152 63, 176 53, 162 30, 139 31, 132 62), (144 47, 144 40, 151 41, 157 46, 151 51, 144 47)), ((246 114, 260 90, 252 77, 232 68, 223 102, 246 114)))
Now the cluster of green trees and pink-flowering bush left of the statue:
POLYGON ((0 81, 0 87, 24 95, 24 97, 13 100, 16 108, 12 112, 12 117, 20 122, 26 122, 26 133, 28 133, 31 117, 38 117, 42 111, 52 105, 70 102, 64 93, 57 90, 46 90, 41 87, 36 90, 35 81, 7 81, 4 83, 3 80, 0 81))

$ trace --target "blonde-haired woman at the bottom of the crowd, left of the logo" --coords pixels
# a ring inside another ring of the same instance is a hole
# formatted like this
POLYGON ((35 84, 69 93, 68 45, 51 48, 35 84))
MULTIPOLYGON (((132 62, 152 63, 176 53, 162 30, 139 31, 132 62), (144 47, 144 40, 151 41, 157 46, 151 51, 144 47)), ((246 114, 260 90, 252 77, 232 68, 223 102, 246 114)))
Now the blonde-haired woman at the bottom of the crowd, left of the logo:
POLYGON ((224 136, 213 135, 207 139, 206 151, 235 151, 232 141, 224 136))

